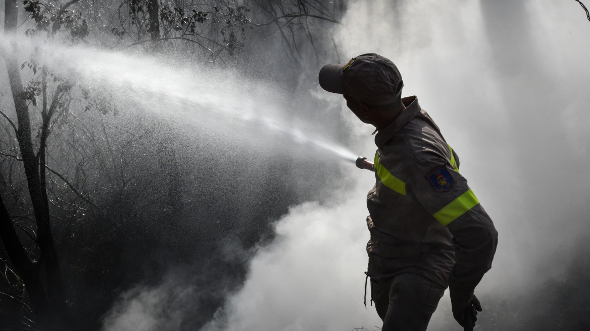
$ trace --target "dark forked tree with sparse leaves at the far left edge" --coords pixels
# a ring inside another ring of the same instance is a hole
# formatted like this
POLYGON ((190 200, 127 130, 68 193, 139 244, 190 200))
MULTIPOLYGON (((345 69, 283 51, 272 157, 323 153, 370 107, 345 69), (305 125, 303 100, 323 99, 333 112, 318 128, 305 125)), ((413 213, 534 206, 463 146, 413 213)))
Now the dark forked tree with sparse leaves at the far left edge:
MULTIPOLYGON (((70 15, 67 11, 67 8, 76 2, 77 0, 69 1, 63 6, 54 8, 55 11, 51 12, 49 9, 42 11, 38 1, 24 1, 25 11, 31 14, 37 24, 37 29, 29 30, 27 34, 47 32, 47 34, 55 35, 64 26, 72 40, 84 38, 87 34, 86 22, 83 20, 79 22, 80 16, 70 15)), ((7 0, 5 1, 4 31, 8 38, 15 37, 17 24, 17 1, 7 0)), ((16 47, 14 46, 14 48, 16 47)), ((5 62, 17 121, 14 123, 4 112, 0 114, 11 124, 18 141, 19 154, 27 178, 28 193, 34 213, 34 226, 37 230, 32 232, 31 239, 38 247, 38 254, 30 254, 25 250, 24 244, 17 236, 15 225, 8 217, 4 201, 1 201, 0 206, 1 237, 6 254, 25 284, 31 302, 31 310, 37 316, 38 325, 41 328, 63 326, 65 323, 65 297, 61 283, 60 262, 51 229, 45 157, 47 138, 55 123, 55 118, 68 107, 70 99, 67 98, 67 93, 71 89, 71 83, 61 81, 60 78, 53 76, 47 71, 47 68, 37 68, 34 59, 19 66, 16 49, 5 54, 5 62), (19 72, 25 65, 28 65, 35 75, 39 72, 36 77, 38 80, 33 80, 27 87, 23 87, 19 72), (48 77, 52 77, 55 83, 53 91, 49 90, 48 77), (39 97, 41 98, 40 105, 37 102, 39 97), (41 125, 37 133, 37 141, 32 137, 32 119, 28 102, 34 108, 41 108, 41 125)))

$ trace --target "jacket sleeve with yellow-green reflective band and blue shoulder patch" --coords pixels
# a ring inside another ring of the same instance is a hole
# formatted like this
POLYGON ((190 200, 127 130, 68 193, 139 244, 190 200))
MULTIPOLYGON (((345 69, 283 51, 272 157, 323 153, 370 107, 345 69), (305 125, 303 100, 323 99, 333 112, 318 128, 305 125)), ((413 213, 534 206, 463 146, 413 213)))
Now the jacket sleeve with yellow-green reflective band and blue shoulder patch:
POLYGON ((449 287, 471 292, 491 268, 498 234, 494 223, 467 186, 467 180, 442 158, 412 167, 412 194, 453 234, 456 262, 449 287))

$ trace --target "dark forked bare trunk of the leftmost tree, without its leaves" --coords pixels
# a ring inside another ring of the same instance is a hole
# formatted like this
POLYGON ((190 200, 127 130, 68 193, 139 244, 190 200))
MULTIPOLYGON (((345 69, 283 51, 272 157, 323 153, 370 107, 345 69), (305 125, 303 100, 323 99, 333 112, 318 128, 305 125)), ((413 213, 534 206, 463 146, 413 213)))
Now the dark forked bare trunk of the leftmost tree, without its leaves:
MULTIPOLYGON (((18 23, 17 1, 5 0, 4 12, 4 32, 6 35, 14 37, 18 23)), ((49 204, 47 200, 47 188, 45 186, 45 141, 47 140, 48 134, 47 130, 45 130, 45 126, 49 124, 51 117, 47 116, 47 114, 43 115, 45 136, 41 139, 40 150, 35 154, 31 138, 29 109, 26 101, 21 98, 23 87, 19 72, 17 53, 6 52, 5 62, 12 98, 17 113, 18 130, 16 132, 16 137, 22 157, 25 176, 27 177, 27 185, 31 196, 35 221, 37 223, 37 244, 40 249, 39 260, 37 262, 31 262, 31 260, 28 260, 28 256, 27 260, 23 260, 22 254, 18 253, 18 251, 20 251, 18 246, 21 246, 22 248, 22 244, 18 240, 18 237, 12 237, 11 234, 8 233, 6 236, 2 236, 2 240, 6 247, 6 251, 10 250, 13 252, 11 262, 15 265, 17 271, 19 273, 23 272, 27 274, 21 274, 20 276, 25 280, 25 286, 30 294, 31 302, 34 303, 34 306, 37 306, 35 314, 38 315, 41 323, 46 322, 54 324, 57 314, 63 313, 62 309, 65 308, 65 300, 63 296, 63 287, 61 286, 59 260, 57 252, 55 251, 53 236, 51 234, 49 204), (13 257, 16 260, 13 260, 13 257), (19 269, 17 264, 22 264, 22 268, 19 269), (34 267, 31 267, 29 264, 32 264, 34 267), (41 282, 41 267, 45 267, 47 293, 44 293, 44 286, 41 282), (27 283, 27 279, 29 280, 29 283, 27 283), (52 320, 54 322, 51 322, 52 320)), ((56 92, 54 99, 58 96, 59 94, 56 92)), ((12 222, 9 219, 2 220, 2 223, 3 229, 4 226, 12 226, 12 222)), ((4 234, 5 231, 3 230, 2 232, 4 234)))

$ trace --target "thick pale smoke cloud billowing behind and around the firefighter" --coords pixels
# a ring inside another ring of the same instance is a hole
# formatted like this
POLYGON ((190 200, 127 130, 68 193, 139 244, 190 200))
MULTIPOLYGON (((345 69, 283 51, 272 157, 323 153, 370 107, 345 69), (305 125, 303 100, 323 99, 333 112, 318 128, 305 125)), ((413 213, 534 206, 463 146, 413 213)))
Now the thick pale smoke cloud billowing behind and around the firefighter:
MULTIPOLYGON (((496 258, 476 289, 482 330, 589 325, 590 67, 583 59, 590 22, 583 14, 573 1, 353 1, 335 31, 343 59, 377 52, 398 65, 404 95, 417 95, 437 121, 496 224, 496 258)), ((340 98, 312 90, 342 115, 352 149, 371 157, 372 127, 340 98)), ((362 304, 364 199, 374 177, 338 171, 346 190, 278 220, 276 239, 255 251, 244 286, 202 330, 381 325, 362 304)), ((176 291, 163 285, 124 294, 104 329, 175 329, 182 318, 169 309, 188 314, 166 299, 176 291), (162 321, 171 323, 160 328, 162 321)), ((457 329, 447 293, 430 330, 457 329)))

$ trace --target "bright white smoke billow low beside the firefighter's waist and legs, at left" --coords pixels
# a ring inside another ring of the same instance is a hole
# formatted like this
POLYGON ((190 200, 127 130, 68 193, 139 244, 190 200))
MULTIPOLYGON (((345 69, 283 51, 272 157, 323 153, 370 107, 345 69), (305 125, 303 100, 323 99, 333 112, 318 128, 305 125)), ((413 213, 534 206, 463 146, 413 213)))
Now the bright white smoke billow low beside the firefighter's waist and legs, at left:
MULTIPOLYGON (((306 203, 277 224, 277 240, 258 251, 244 288, 205 330, 346 330, 377 325, 363 307, 364 194, 334 206, 306 203)), ((370 295, 369 295, 370 297, 370 295)), ((371 308, 371 307, 369 307, 371 308)))

